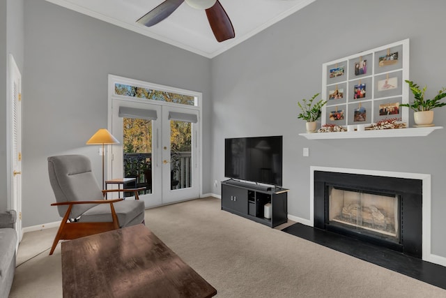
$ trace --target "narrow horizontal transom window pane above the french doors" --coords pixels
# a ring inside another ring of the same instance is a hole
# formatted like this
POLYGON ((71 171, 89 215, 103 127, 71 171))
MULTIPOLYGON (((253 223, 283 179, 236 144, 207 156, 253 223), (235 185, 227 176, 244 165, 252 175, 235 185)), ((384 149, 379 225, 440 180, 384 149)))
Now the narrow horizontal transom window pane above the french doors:
POLYGON ((147 89, 143 87, 130 86, 126 84, 114 84, 116 95, 130 96, 149 100, 159 100, 167 103, 180 103, 182 105, 196 105, 194 96, 176 94, 167 91, 147 89))

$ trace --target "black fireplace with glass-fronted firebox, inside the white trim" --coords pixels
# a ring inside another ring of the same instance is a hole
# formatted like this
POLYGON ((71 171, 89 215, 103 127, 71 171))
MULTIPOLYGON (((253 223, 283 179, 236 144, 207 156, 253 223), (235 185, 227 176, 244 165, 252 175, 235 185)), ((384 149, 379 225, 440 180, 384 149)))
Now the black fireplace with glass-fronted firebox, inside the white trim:
POLYGON ((422 258, 421 179, 314 171, 314 227, 422 258))

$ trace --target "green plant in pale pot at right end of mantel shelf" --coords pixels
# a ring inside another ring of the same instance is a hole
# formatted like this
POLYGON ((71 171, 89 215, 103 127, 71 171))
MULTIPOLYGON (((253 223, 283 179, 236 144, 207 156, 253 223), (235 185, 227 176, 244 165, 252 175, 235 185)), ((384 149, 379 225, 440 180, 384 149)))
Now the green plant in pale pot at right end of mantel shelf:
POLYGON ((401 103, 401 107, 409 107, 414 111, 413 119, 418 126, 432 126, 433 122, 433 109, 436 107, 443 107, 446 105, 444 102, 440 102, 442 98, 446 97, 446 88, 438 91, 438 94, 432 99, 424 99, 427 87, 423 89, 412 81, 406 80, 409 84, 410 91, 412 91, 415 100, 413 103, 401 103))

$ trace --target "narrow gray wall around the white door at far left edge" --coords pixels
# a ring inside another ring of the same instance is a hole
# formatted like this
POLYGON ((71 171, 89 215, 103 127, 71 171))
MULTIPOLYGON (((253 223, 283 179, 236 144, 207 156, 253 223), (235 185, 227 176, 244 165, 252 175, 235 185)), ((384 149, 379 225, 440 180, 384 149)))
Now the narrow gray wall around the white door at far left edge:
POLYGON ((22 73, 24 47, 23 0, 0 0, 0 211, 10 208, 10 161, 8 119, 9 54, 22 73))

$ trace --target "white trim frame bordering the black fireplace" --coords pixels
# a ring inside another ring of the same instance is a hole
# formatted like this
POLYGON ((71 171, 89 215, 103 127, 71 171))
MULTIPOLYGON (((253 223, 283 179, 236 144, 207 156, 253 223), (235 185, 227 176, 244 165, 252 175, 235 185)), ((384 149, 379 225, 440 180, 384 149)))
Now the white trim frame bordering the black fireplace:
MULTIPOLYGON (((431 255, 431 175, 406 172, 347 169, 342 167, 310 166, 309 225, 314 226, 314 171, 364 174, 370 176, 395 177, 422 180, 422 260, 445 266, 442 260, 431 255)), ((439 258, 439 257, 438 257, 439 258)))

